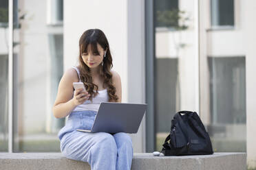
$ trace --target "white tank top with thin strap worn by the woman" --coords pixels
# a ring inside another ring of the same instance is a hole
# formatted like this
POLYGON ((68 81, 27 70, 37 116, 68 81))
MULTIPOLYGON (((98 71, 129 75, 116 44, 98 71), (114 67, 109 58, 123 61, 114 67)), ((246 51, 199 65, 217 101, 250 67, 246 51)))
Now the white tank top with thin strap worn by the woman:
MULTIPOLYGON (((76 69, 76 72, 79 77, 79 82, 81 82, 79 70, 77 69, 76 66, 72 66, 72 68, 76 69)), ((74 97, 74 93, 73 93, 73 97, 74 97)), ((92 101, 87 100, 87 101, 85 101, 85 103, 76 106, 76 108, 74 108, 72 111, 74 112, 74 111, 82 111, 82 110, 94 110, 94 111, 98 112, 100 103, 107 102, 107 101, 109 101, 109 95, 107 95, 107 89, 98 90, 98 95, 96 95, 96 97, 93 97, 92 101)))

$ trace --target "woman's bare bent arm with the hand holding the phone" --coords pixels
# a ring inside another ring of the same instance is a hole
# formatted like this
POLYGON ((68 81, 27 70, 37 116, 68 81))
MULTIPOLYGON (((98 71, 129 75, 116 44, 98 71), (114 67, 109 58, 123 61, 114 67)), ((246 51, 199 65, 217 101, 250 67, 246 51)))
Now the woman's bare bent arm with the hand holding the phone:
POLYGON ((87 99, 87 95, 81 90, 73 91, 73 82, 78 82, 78 75, 76 70, 70 68, 63 74, 58 84, 58 94, 52 107, 54 117, 66 117, 76 106, 83 104, 87 99))

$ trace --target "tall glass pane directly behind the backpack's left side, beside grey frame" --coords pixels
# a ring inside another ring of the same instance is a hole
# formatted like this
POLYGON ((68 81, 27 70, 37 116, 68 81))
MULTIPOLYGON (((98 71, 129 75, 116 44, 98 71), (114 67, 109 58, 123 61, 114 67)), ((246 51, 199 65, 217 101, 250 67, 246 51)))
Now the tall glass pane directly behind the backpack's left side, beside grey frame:
POLYGON ((195 1, 154 1, 156 150, 180 110, 198 111, 195 1))

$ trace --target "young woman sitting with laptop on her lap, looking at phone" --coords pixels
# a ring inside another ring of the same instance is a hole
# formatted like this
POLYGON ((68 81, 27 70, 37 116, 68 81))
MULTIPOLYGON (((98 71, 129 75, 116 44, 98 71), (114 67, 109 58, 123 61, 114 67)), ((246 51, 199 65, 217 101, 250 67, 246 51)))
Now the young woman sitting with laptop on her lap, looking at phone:
POLYGON ((89 29, 79 40, 79 65, 68 69, 58 85, 52 108, 54 117, 68 117, 58 132, 61 152, 67 158, 88 162, 92 169, 131 169, 133 148, 125 133, 87 133, 100 102, 121 102, 120 76, 112 71, 109 43, 100 29, 89 29), (87 93, 74 90, 73 82, 83 82, 87 93))

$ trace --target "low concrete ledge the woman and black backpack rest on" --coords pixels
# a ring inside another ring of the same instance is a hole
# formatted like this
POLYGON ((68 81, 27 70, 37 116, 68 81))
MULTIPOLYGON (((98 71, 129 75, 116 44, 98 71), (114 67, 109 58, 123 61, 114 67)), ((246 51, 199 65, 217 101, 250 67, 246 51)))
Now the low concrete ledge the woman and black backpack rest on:
MULTIPOLYGON (((0 169, 90 169, 87 162, 70 160, 61 153, 0 153, 0 169)), ((134 153, 133 170, 246 170, 246 154, 215 153, 206 156, 152 156, 151 153, 134 153)))

